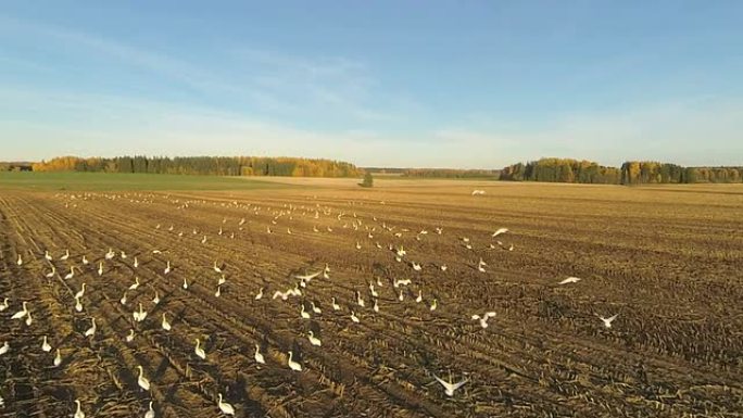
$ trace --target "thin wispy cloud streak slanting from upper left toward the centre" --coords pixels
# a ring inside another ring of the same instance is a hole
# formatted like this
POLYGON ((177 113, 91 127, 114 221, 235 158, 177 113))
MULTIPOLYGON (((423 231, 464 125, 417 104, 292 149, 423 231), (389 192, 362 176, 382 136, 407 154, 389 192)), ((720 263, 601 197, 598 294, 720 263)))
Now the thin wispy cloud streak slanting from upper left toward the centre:
POLYGON ((231 105, 265 116, 319 124, 323 116, 329 115, 328 125, 338 118, 345 118, 347 124, 363 124, 396 117, 387 111, 394 112, 396 99, 373 93, 376 81, 366 64, 345 56, 308 58, 264 49, 215 47, 209 53, 222 63, 216 66, 66 27, 7 17, 0 17, 0 34, 38 38, 38 45, 68 51, 76 54, 74 59, 99 56, 125 68, 147 72, 224 103, 223 109, 231 105))

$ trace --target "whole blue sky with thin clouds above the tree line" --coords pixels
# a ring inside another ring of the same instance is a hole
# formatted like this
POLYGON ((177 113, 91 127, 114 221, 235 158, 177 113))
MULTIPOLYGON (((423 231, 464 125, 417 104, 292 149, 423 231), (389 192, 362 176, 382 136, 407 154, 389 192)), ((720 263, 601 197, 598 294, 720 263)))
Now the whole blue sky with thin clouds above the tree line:
POLYGON ((743 165, 741 1, 3 1, 0 161, 743 165))

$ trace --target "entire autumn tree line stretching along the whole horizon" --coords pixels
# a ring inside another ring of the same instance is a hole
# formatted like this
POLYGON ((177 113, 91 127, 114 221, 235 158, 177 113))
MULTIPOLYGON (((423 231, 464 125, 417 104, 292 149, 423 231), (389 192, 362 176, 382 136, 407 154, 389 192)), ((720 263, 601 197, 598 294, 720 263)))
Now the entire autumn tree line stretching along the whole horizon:
POLYGON ((651 161, 630 161, 621 167, 592 161, 541 159, 498 169, 360 168, 323 159, 263 156, 60 156, 40 163, 0 162, 3 170, 154 173, 217 176, 360 177, 365 172, 412 178, 481 178, 506 181, 546 181, 594 185, 743 182, 743 167, 683 167, 651 161))

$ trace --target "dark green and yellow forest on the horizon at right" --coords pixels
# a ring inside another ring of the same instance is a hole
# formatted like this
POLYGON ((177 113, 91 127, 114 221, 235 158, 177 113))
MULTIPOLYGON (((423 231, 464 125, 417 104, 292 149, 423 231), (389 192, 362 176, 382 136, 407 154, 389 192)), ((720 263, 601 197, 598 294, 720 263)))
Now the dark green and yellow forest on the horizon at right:
POLYGON ((677 164, 630 161, 616 168, 591 161, 541 159, 509 165, 501 170, 500 179, 596 185, 743 182, 743 167, 682 167, 677 164))

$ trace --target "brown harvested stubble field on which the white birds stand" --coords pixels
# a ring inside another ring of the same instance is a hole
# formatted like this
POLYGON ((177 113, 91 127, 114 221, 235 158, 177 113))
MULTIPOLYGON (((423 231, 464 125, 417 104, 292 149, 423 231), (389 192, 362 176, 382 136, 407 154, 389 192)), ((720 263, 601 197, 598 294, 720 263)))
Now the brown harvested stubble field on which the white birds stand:
POLYGON ((0 417, 71 416, 75 398, 88 416, 152 401, 158 417, 221 417, 219 394, 238 417, 743 411, 740 185, 56 189, 68 179, 0 192, 0 417), (10 319, 23 302, 30 326, 10 319), (435 378, 450 375, 467 380, 454 396, 435 378))

